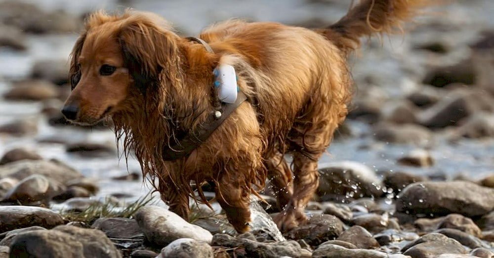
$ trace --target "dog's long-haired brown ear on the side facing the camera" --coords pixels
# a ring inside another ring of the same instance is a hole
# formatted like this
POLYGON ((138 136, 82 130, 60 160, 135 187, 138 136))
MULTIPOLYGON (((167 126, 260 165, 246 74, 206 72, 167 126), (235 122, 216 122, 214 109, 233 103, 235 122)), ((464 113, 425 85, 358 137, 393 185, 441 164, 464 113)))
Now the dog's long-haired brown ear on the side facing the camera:
POLYGON ((124 66, 143 93, 154 82, 163 79, 173 82, 177 78, 178 37, 155 19, 133 14, 118 35, 124 66))

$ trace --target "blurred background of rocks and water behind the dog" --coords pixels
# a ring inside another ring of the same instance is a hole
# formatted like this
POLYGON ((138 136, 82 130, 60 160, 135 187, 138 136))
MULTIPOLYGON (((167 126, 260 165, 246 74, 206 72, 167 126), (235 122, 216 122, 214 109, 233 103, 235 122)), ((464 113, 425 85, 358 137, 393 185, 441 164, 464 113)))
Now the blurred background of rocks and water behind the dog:
MULTIPOLYGON (((127 164, 118 155, 110 126, 70 125, 59 111, 70 93, 68 55, 84 16, 93 10, 156 12, 181 35, 195 36, 235 17, 325 27, 350 3, 0 0, 0 157, 22 148, 3 163, 60 160, 96 182, 96 196, 130 200, 149 191, 137 162, 130 158, 127 164)), ((492 175, 494 1, 451 1, 425 13, 405 34, 371 39, 352 56, 358 88, 353 110, 321 167, 348 161, 369 167, 380 179, 396 172, 432 180, 481 181, 492 175)))

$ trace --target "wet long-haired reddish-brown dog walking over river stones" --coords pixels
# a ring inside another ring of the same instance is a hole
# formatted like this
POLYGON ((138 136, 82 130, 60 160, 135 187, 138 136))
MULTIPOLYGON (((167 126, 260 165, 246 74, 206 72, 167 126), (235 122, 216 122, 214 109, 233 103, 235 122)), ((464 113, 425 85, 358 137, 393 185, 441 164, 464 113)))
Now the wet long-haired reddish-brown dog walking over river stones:
POLYGON ((318 159, 348 113, 348 56, 361 37, 393 33, 425 5, 361 0, 338 22, 314 30, 228 20, 197 40, 179 37, 151 13, 97 11, 71 53, 72 93, 62 113, 77 124, 113 120, 125 154, 135 152, 169 209, 185 219, 189 197, 197 190, 206 200, 199 185, 212 182, 230 223, 246 232, 250 196, 269 179, 283 209, 275 222, 287 231, 307 221, 318 159), (170 146, 218 116, 212 89, 220 65, 234 68, 247 101, 190 153, 165 159, 175 151, 170 146), (291 166, 286 153, 293 154, 291 166))

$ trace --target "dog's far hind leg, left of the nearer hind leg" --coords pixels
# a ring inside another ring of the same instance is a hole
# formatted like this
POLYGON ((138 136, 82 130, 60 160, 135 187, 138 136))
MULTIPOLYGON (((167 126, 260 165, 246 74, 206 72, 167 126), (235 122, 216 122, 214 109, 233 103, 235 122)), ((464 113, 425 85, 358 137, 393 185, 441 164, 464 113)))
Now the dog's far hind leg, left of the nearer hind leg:
POLYGON ((268 170, 268 180, 276 195, 278 207, 283 210, 291 200, 293 193, 292 173, 283 154, 276 152, 264 162, 268 170))

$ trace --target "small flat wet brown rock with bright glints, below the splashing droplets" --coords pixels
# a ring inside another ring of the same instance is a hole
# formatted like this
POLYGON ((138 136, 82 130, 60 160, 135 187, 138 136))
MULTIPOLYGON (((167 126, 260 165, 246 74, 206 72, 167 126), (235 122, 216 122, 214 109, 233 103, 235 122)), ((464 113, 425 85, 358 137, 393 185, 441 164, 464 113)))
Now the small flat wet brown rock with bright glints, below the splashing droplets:
POLYGON ((358 217, 354 217, 352 220, 354 225, 359 225, 369 230, 371 233, 376 234, 388 228, 400 229, 398 220, 396 218, 389 218, 387 213, 378 215, 375 213, 364 214, 358 217))

